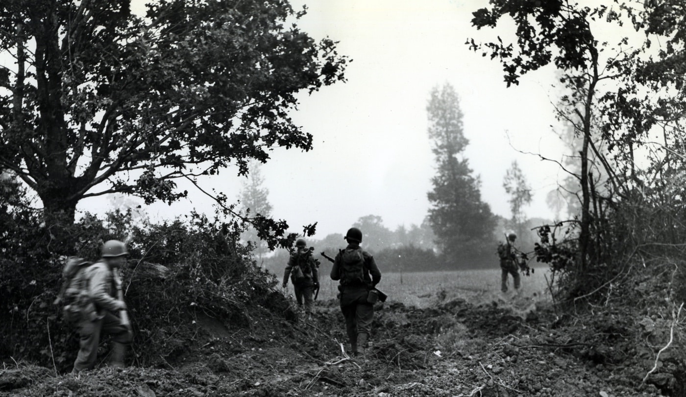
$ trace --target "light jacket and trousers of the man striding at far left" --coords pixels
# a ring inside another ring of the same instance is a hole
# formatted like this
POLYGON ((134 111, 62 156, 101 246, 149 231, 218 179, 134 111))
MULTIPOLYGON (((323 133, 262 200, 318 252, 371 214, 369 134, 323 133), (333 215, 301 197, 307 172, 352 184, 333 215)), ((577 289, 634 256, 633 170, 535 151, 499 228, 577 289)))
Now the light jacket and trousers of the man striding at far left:
POLYGON ((80 350, 74 362, 74 372, 91 370, 95 367, 101 334, 113 336, 112 362, 115 365, 123 365, 126 346, 133 339, 130 328, 121 324, 121 318, 118 315, 121 303, 115 295, 117 287, 112 270, 101 261, 88 267, 86 272, 88 272, 89 280, 88 290, 97 309, 97 315, 92 316, 95 320, 86 316, 78 324, 80 350))

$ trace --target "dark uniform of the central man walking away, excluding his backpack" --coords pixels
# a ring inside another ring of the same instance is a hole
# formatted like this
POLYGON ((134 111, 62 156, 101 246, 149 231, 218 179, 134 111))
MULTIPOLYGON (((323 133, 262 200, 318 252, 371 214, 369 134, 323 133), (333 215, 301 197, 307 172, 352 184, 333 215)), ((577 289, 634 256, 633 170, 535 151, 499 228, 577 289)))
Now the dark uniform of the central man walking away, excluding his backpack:
MULTIPOLYGON (((360 233, 360 240, 362 235, 360 233)), ((346 249, 359 248, 359 243, 348 240, 346 249)), ((374 257, 366 251, 362 251, 364 258, 364 282, 353 283, 344 278, 342 252, 339 252, 331 267, 331 279, 340 280, 340 306, 345 317, 346 333, 351 342, 353 354, 364 354, 366 344, 371 333, 371 325, 374 317, 374 304, 370 303, 369 291, 381 280, 381 272, 377 267, 374 257)))

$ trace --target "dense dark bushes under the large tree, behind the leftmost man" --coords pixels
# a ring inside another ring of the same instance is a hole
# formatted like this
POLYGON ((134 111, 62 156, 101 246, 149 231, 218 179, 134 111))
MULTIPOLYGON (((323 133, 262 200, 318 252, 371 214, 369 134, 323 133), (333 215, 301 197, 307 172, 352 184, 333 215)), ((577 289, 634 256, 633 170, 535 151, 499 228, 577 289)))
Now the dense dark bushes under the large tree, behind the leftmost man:
MULTIPOLYGON (((12 207, 0 228, 0 357, 70 370, 78 350, 73 327, 52 304, 62 260, 51 247, 40 214, 12 207)), ((168 223, 133 226, 130 213, 106 219, 85 215, 69 228, 69 245, 96 261, 102 241, 128 241, 123 289, 134 328, 133 361, 154 365, 192 346, 202 313, 232 326, 248 326, 257 305, 289 315, 276 280, 256 266, 238 243, 241 225, 191 214, 168 223)))

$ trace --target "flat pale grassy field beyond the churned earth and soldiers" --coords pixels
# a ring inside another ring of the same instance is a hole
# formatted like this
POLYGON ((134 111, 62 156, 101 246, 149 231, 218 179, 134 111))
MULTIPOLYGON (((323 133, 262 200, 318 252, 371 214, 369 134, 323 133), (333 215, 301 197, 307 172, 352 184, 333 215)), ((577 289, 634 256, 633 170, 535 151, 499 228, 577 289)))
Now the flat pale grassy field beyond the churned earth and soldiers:
MULTIPOLYGON (((330 270, 331 267, 327 265, 320 268, 320 301, 334 299, 338 293, 338 282, 329 278, 330 270)), ((521 276, 521 289, 517 296, 514 296, 511 277, 510 291, 501 293, 500 269, 382 273, 381 282, 377 287, 388 295, 386 303, 402 302, 406 306, 426 307, 456 298, 463 298, 475 304, 512 301, 512 298, 517 298, 517 306, 522 306, 549 297, 545 282, 547 272, 546 267, 541 267, 535 269, 531 276, 521 276)), ((288 288, 292 293, 292 285, 288 288)))

